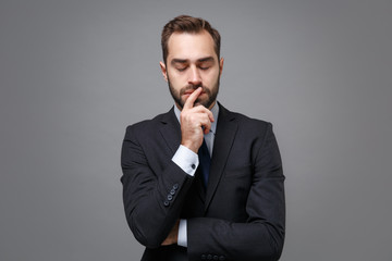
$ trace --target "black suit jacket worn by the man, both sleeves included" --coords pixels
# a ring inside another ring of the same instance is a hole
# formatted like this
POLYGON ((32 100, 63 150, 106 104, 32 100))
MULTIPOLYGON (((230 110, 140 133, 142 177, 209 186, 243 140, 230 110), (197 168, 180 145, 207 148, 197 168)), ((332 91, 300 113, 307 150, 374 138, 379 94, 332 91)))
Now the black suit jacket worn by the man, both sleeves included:
POLYGON ((127 127, 121 181, 142 260, 279 259, 284 176, 272 125, 219 105, 207 189, 171 160, 181 142, 173 109, 127 127), (179 219, 187 220, 188 247, 161 247, 179 219))

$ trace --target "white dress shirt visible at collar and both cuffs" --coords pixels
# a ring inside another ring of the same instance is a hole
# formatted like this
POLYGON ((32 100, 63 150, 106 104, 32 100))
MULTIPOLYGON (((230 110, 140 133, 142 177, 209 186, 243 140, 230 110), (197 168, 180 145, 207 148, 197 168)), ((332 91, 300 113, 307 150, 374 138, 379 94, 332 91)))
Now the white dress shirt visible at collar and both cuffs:
MULTIPOLYGON (((205 134, 204 138, 206 140, 206 145, 207 145, 208 151, 210 153, 210 157, 212 158, 213 140, 215 140, 215 135, 216 135, 216 130, 217 130, 218 114, 219 114, 219 105, 217 102, 211 108, 211 112, 212 112, 215 122, 211 123, 211 129, 208 134, 205 134)), ((181 121, 180 121, 181 111, 179 110, 179 108, 176 105, 174 105, 174 113, 181 124, 181 121)), ((191 149, 188 149, 182 145, 180 145, 179 149, 174 153, 172 161, 191 176, 195 175, 195 172, 199 164, 197 153, 193 152, 191 149)), ((177 245, 187 247, 186 220, 180 220, 177 245)))

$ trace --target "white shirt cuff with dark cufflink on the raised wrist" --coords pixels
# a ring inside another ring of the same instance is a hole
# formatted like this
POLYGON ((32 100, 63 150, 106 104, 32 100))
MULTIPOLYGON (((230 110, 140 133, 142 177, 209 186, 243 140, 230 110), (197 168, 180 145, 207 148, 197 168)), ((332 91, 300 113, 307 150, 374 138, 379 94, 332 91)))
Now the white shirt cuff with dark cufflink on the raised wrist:
POLYGON ((175 151, 172 161, 191 176, 195 175, 199 163, 198 156, 182 145, 180 145, 179 149, 175 151))

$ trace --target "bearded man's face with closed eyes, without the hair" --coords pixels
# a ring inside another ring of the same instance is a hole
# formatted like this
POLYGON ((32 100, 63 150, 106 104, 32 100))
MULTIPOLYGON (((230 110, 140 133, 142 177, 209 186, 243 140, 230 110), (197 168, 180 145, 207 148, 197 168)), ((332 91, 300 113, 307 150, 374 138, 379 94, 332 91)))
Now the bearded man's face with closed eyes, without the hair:
POLYGON ((201 86, 195 105, 211 109, 223 69, 223 59, 218 60, 212 37, 206 30, 174 33, 169 38, 168 50, 167 63, 160 62, 160 66, 175 104, 182 110, 189 95, 201 86))

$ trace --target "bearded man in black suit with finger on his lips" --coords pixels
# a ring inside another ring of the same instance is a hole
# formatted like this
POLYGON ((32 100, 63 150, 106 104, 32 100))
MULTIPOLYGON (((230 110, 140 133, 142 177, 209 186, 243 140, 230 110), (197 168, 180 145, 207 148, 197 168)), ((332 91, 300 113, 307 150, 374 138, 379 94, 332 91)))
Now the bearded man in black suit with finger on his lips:
POLYGON ((271 124, 217 102, 223 59, 207 21, 177 16, 161 40, 175 105, 128 126, 121 158, 142 260, 278 260, 284 176, 271 124))

